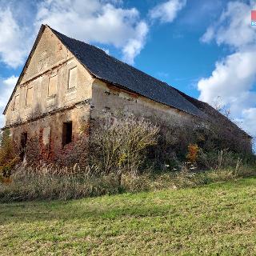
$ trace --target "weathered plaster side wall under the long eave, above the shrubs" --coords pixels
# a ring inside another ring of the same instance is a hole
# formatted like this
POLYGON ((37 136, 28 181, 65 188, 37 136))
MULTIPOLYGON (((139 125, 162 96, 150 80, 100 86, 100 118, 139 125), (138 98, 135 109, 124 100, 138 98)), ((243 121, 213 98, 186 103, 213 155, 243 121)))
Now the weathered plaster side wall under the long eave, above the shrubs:
POLYGON ((91 105, 92 119, 103 118, 106 114, 132 113, 169 126, 193 126, 194 122, 201 122, 190 114, 98 80, 93 83, 91 105))

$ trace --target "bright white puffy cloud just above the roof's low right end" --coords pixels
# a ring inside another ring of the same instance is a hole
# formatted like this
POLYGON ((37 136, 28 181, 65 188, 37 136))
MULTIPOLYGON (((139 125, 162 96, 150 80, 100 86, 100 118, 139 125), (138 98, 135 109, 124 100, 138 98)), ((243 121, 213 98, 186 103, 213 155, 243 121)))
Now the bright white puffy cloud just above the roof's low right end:
POLYGON ((238 52, 217 62, 210 78, 198 82, 200 99, 206 102, 222 96, 225 104, 236 102, 243 93, 250 91, 256 75, 256 51, 238 52), (221 94, 221 95, 220 95, 221 94))

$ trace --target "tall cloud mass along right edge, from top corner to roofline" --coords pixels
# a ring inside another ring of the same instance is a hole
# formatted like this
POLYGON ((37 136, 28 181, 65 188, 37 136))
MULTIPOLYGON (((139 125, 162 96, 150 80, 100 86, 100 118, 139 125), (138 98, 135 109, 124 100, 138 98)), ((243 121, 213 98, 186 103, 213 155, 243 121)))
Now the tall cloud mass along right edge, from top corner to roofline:
POLYGON ((198 82, 198 90, 199 99, 210 104, 220 96, 242 128, 256 136, 256 30, 250 25, 250 10, 250 4, 229 2, 202 36, 202 42, 214 40, 234 53, 216 62, 210 77, 198 82))

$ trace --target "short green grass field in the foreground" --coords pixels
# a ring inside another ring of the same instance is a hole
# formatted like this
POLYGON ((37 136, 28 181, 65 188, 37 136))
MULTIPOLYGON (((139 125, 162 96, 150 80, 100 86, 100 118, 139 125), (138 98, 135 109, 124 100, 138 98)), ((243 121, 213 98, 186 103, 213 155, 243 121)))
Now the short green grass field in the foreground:
POLYGON ((255 255, 256 178, 0 204, 0 255, 255 255))

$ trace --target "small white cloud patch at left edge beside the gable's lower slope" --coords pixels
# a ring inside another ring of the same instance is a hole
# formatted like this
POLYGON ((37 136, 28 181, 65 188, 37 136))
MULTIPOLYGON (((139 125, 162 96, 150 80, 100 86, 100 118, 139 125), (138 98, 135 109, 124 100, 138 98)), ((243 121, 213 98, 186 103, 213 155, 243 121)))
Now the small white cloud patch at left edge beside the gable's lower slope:
POLYGON ((0 79, 0 127, 4 125, 4 116, 2 115, 2 112, 6 107, 10 94, 14 90, 17 80, 18 77, 15 77, 14 75, 10 78, 0 79))

